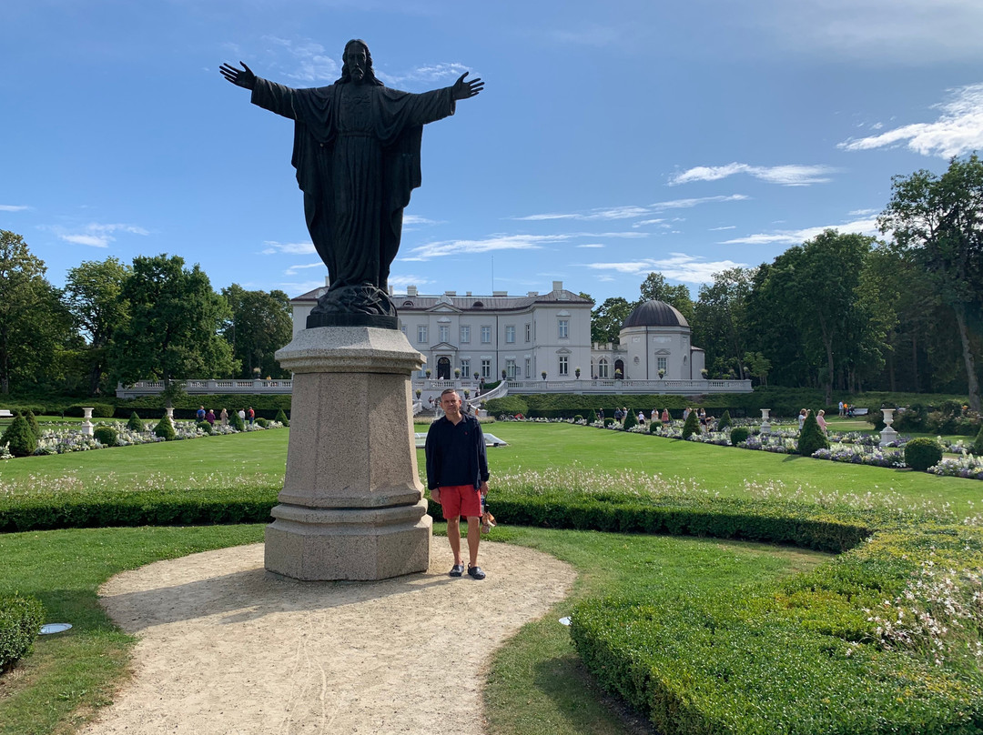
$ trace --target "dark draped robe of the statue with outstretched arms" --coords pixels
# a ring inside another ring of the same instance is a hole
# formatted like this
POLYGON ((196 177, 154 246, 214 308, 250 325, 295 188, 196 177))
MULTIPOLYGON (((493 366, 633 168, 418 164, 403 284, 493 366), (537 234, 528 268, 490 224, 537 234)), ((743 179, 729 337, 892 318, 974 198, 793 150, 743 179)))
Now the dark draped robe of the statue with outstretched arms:
POLYGON ((327 311, 394 315, 385 296, 389 265, 403 208, 421 182, 423 126, 454 114, 451 87, 422 94, 353 83, 293 89, 258 78, 253 103, 296 122, 291 162, 330 278, 321 305, 333 299, 327 311), (361 303, 376 290, 376 304, 361 303))

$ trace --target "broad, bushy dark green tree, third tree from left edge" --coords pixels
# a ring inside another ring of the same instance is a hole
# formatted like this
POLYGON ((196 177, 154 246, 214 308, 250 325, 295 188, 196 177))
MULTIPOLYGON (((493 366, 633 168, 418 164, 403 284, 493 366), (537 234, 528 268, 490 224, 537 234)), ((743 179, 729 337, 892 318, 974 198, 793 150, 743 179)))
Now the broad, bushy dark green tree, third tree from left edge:
POLYGON ((186 377, 231 377, 237 365, 219 328, 230 312, 196 263, 166 254, 139 256, 121 292, 130 306, 112 341, 112 364, 123 382, 157 377, 169 389, 186 377))

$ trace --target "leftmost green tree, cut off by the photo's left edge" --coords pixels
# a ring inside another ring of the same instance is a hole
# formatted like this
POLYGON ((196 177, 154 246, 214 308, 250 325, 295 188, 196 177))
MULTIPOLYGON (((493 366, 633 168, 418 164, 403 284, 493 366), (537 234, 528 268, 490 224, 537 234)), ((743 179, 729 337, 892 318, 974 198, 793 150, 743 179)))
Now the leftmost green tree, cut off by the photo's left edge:
POLYGON ((0 230, 0 393, 60 379, 70 324, 44 261, 20 235, 0 230))

